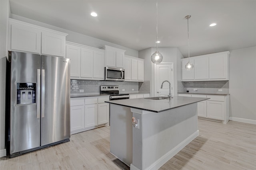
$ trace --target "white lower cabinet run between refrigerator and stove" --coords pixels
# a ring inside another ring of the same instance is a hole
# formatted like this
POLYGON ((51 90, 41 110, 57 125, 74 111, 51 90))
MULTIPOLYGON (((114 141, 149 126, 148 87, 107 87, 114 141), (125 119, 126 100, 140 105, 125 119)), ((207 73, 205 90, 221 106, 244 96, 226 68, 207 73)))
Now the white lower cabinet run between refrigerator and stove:
POLYGON ((71 98, 71 134, 94 129, 109 122, 109 96, 71 98))

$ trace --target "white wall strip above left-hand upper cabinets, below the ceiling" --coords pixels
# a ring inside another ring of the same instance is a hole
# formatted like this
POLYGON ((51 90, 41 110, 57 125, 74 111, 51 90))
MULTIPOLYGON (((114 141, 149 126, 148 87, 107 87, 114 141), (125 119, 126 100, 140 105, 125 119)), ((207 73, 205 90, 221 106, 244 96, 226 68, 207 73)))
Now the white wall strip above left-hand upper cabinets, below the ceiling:
POLYGON ((132 57, 138 57, 138 51, 137 50, 129 49, 129 48, 123 47, 121 45, 110 43, 108 41, 103 41, 101 39, 97 39, 97 38, 90 37, 90 36, 87 36, 87 35, 83 35, 83 34, 80 34, 80 33, 76 33, 76 32, 73 32, 73 31, 69 31, 67 29, 63 29, 63 28, 60 28, 60 27, 55 27, 53 25, 48 25, 46 23, 31 20, 31 19, 28 19, 28 18, 24 18, 22 16, 14 15, 14 14, 11 14, 10 18, 15 19, 15 20, 24 21, 24 22, 27 22, 27 23, 32 23, 34 25, 38 25, 38 26, 41 26, 41 27, 54 29, 56 31, 68 33, 68 35, 66 37, 66 41, 70 41, 70 42, 78 43, 78 44, 82 44, 82 45, 88 45, 90 47, 95 47, 95 48, 100 48, 103 45, 109 45, 111 47, 116 47, 116 48, 119 48, 119 49, 126 50, 125 55, 130 55, 132 57))

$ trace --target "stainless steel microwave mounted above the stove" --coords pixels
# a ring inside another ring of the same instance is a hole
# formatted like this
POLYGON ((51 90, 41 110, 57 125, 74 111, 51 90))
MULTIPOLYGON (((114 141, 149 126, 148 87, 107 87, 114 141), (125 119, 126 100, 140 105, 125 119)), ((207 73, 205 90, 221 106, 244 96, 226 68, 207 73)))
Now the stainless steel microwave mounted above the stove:
POLYGON ((105 80, 124 81, 124 68, 105 67, 105 80))

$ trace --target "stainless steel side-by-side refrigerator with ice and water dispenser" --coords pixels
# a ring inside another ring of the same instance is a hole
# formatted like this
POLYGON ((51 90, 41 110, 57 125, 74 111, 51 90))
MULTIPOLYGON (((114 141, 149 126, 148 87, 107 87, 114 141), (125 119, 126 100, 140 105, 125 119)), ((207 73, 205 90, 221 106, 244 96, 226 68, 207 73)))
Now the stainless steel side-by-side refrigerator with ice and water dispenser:
POLYGON ((70 138, 70 59, 9 51, 6 151, 14 157, 70 138))

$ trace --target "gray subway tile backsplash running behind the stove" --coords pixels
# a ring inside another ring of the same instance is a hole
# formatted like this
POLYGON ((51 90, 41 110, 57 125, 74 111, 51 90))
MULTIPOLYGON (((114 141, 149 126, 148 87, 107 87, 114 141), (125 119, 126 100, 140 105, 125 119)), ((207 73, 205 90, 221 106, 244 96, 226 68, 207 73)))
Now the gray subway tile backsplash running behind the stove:
POLYGON ((100 80, 70 80, 71 94, 99 94, 100 86, 119 86, 120 93, 150 92, 150 81, 144 82, 117 82, 100 80), (123 91, 124 89, 124 91, 123 91))

